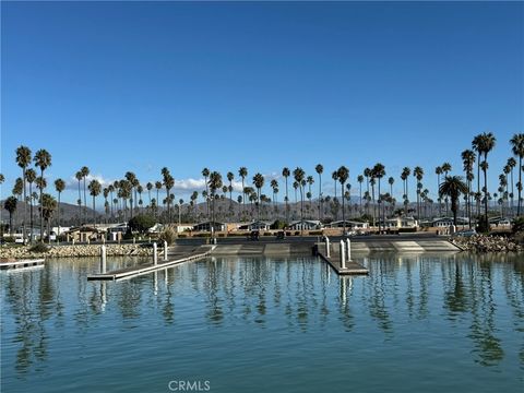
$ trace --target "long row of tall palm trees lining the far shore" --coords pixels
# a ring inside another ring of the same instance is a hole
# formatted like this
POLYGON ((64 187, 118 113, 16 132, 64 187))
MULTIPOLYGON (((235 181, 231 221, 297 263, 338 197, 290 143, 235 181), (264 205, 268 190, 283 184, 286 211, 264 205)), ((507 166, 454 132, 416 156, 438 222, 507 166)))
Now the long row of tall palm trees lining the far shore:
MULTIPOLYGON (((488 192, 488 155, 496 146, 496 138, 491 132, 485 132, 476 135, 472 141, 472 148, 465 150, 461 153, 461 158, 463 162, 463 170, 465 175, 465 181, 462 176, 450 176, 452 172, 452 166, 450 163, 443 163, 434 169, 438 181, 438 207, 439 216, 442 216, 442 207, 445 205, 445 213, 449 214, 449 203, 451 201, 451 211, 456 215, 458 210, 458 195, 464 196, 465 202, 465 214, 468 217, 469 225, 472 225, 473 206, 476 206, 476 216, 480 216, 481 205, 484 205, 484 225, 488 226, 488 201, 495 196, 500 196, 498 200, 499 205, 501 205, 501 211, 503 212, 504 204, 508 204, 507 212, 512 212, 514 206, 514 186, 516 186, 517 198, 516 198, 516 215, 521 215, 522 211, 522 158, 524 156, 524 134, 519 133, 514 134, 510 140, 511 152, 513 154, 502 169, 502 174, 499 176, 499 188, 498 193, 492 195, 488 192), (515 159, 516 158, 516 159, 515 159), (476 164, 476 175, 475 175, 475 164, 476 164), (513 171, 514 168, 517 169, 517 181, 514 183, 513 171), (481 187, 481 176, 484 180, 484 187, 481 187), (477 178, 476 190, 474 190, 473 184, 477 178), (443 181, 441 181, 443 180, 443 181), (458 181, 462 181, 460 183, 458 181), (510 192, 511 183, 511 192, 510 192), (445 187, 443 187, 445 184, 445 187), (463 187, 464 184, 464 187, 463 187), (510 204, 511 200, 511 204, 510 204), (443 202, 443 203, 442 203, 443 202)), ((27 206, 29 207, 29 227, 33 228, 33 201, 37 200, 39 203, 39 226, 40 233, 44 233, 44 221, 46 221, 46 214, 52 215, 53 209, 52 205, 56 204, 51 201, 52 198, 50 194, 46 195, 47 181, 45 178, 45 172, 48 167, 51 166, 51 155, 46 150, 38 150, 34 156, 32 156, 32 151, 27 146, 20 146, 16 148, 16 164, 22 169, 22 177, 17 178, 14 187, 13 194, 17 195, 15 200, 19 202, 24 201, 24 211, 23 211, 23 236, 24 241, 26 237, 26 216, 27 216, 27 206), (31 165, 34 164, 35 168, 32 168, 31 165), (39 174, 37 174, 37 170, 39 174), (38 193, 33 192, 33 184, 36 186, 38 193), (28 195, 27 195, 28 193, 28 195), (48 203, 48 205, 46 205, 48 203)), ((324 218, 324 203, 330 201, 332 204, 332 211, 334 212, 334 218, 337 219, 336 215, 338 212, 338 203, 342 201, 342 219, 345 223, 345 203, 350 201, 350 190, 352 184, 348 182, 349 179, 349 169, 345 166, 341 166, 338 169, 332 172, 332 179, 334 180, 334 196, 330 195, 324 196, 322 192, 322 175, 324 172, 324 167, 322 164, 318 164, 314 167, 314 171, 318 175, 318 193, 317 193, 317 217, 319 221, 324 218), (337 184, 341 187, 340 199, 337 195, 337 184)), ((164 215, 165 222, 172 223, 171 215, 171 205, 175 202, 175 194, 171 190, 175 187, 175 178, 171 176, 167 167, 162 168, 160 175, 162 179, 147 182, 144 187, 140 183, 138 177, 134 172, 128 171, 124 174, 121 180, 116 180, 111 184, 103 188, 100 182, 95 178, 91 177, 90 180, 90 168, 83 166, 75 174, 75 179, 78 180, 78 205, 79 205, 79 225, 84 223, 87 217, 87 190, 90 195, 93 198, 93 224, 96 225, 96 199, 102 193, 105 199, 105 214, 114 218, 123 218, 124 221, 131 218, 133 214, 140 212, 144 209, 144 201, 142 194, 144 190, 148 194, 148 204, 147 210, 151 213, 154 213, 159 217, 159 206, 165 207, 166 214, 164 215), (87 180, 90 182, 87 183, 87 180), (159 191, 165 189, 166 198, 159 201, 159 191), (83 192, 82 192, 83 191, 83 192), (156 198, 152 198, 152 191, 156 191, 156 198), (109 201, 108 201, 109 199, 109 201), (128 209, 128 202, 130 209, 128 209), (118 212, 118 214, 116 214, 118 212), (128 217, 129 212, 129 217, 128 217)), ((413 170, 409 167, 404 167, 400 178, 403 181, 403 204, 404 209, 401 210, 401 214, 406 215, 409 212, 409 177, 416 179, 416 215, 418 218, 427 214, 426 206, 432 205, 433 200, 429 196, 429 190, 424 187, 424 176, 425 170, 420 166, 416 166, 413 170)), ((202 191, 202 198, 205 202, 206 214, 213 218, 216 215, 215 212, 215 199, 218 196, 219 191, 223 192, 223 195, 229 194, 229 210, 233 215, 234 211, 234 180, 235 175, 233 171, 228 171, 226 175, 228 186, 223 184, 222 175, 217 171, 211 171, 209 168, 202 170, 202 176, 204 177, 204 187, 202 191), (210 214, 211 213, 211 214, 210 214)), ((251 204, 254 203, 257 210, 257 218, 260 219, 260 207, 261 204, 265 202, 273 202, 273 209, 276 215, 278 215, 278 203, 277 195, 279 192, 279 184, 277 179, 272 179, 270 181, 270 187, 273 193, 273 198, 270 199, 265 195, 262 190, 265 184, 265 178, 262 174, 257 172, 252 177, 252 187, 248 184, 248 169, 246 167, 240 167, 238 169, 238 176, 241 179, 241 192, 239 193, 236 202, 241 204, 241 214, 246 217, 247 206, 246 202, 249 201, 251 204)), ((377 163, 374 166, 365 168, 361 174, 357 176, 357 182, 359 183, 359 214, 370 217, 373 226, 376 225, 377 218, 379 219, 379 225, 385 218, 385 204, 389 203, 390 207, 396 204, 396 200, 393 198, 393 184, 395 182, 394 177, 388 178, 388 183, 390 186, 389 192, 383 192, 382 190, 382 179, 386 176, 385 166, 381 163, 377 163), (366 181, 366 191, 362 194, 362 183, 366 181), (376 194, 377 187, 377 194, 376 194), (362 206, 364 203, 364 206, 362 206)), ((312 184, 314 183, 314 177, 312 175, 307 175, 306 171, 297 167, 293 171, 288 167, 284 167, 282 170, 282 177, 284 178, 285 187, 285 221, 289 222, 289 181, 293 180, 293 188, 295 191, 295 202, 299 203, 300 206, 300 219, 305 218, 305 200, 309 201, 308 210, 311 211, 312 207, 312 184), (293 177, 291 177, 293 176, 293 177), (306 189, 307 187, 307 189, 306 189), (299 194, 299 200, 298 200, 299 194)), ((3 176, 2 176, 3 182, 3 176)), ((55 181, 55 189, 58 193, 58 205, 60 204, 61 193, 66 190, 66 181, 62 179, 57 179, 55 181)), ((190 196, 190 206, 194 206, 198 202, 199 192, 194 191, 190 196)), ((180 199, 179 203, 176 205, 178 207, 178 216, 180 219, 181 206, 183 200, 180 199)), ((16 210, 16 204, 10 199, 8 211, 11 213, 16 210)), ((431 213, 430 213, 431 214, 431 213)), ((60 225, 60 211, 58 211, 58 224, 60 225)), ((33 230, 33 229, 32 229, 33 230)))

